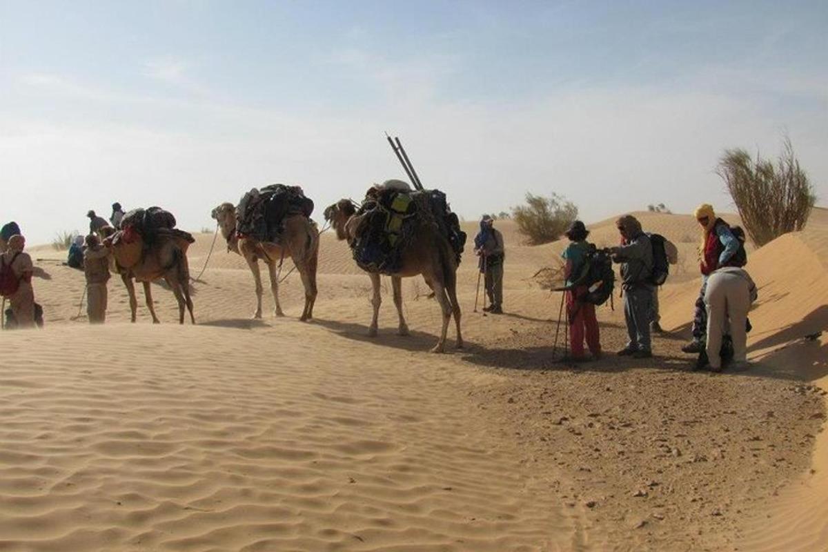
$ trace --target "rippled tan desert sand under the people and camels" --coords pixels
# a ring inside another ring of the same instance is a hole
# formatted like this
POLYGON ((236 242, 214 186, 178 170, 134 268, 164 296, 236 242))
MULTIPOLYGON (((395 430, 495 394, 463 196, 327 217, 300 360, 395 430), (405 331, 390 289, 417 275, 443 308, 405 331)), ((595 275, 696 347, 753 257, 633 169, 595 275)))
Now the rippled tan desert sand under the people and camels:
MULTIPOLYGON (((253 280, 219 238, 193 286, 197 325, 155 286, 109 284, 108 324, 79 313, 83 274, 33 247, 42 330, 3 332, 0 550, 824 550, 828 543, 828 211, 749 253, 759 286, 750 367, 691 372, 680 351, 699 286, 689 215, 638 214, 680 248, 661 292, 656 358, 616 358, 620 300, 599 309, 599 362, 554 362, 560 295, 532 279, 563 244, 507 242, 503 315, 474 313, 467 346, 427 353, 439 308, 390 282, 368 338, 368 277, 321 239, 315 321, 251 320, 253 280), (140 291, 139 291, 140 295, 140 291)), ((731 221, 738 218, 727 217, 731 221)), ((590 240, 617 242, 614 219, 590 240)), ((473 234, 474 223, 466 230, 473 234)), ((195 276, 212 234, 190 248, 195 276)), ((286 264, 289 270, 290 264, 286 264)))

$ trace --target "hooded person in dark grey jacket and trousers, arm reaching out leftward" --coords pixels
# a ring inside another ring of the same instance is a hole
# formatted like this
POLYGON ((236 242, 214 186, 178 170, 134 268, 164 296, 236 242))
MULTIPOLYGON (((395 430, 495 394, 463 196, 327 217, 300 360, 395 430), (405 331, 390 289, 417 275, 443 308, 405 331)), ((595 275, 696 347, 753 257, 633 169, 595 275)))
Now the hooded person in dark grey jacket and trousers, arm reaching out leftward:
POLYGON ((641 229, 638 218, 631 214, 616 221, 621 245, 609 247, 614 262, 621 263, 623 314, 629 340, 619 351, 620 356, 652 357, 650 316, 652 303, 652 244, 641 229))

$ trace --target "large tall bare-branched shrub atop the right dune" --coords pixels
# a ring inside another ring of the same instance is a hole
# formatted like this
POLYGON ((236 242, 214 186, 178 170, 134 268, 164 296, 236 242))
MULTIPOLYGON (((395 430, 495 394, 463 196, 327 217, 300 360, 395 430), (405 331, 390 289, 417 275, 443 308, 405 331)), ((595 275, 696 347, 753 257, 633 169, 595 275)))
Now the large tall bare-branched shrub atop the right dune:
POLYGON ((744 229, 757 247, 783 233, 802 230, 816 201, 811 181, 785 137, 777 163, 741 148, 725 150, 716 174, 733 198, 744 229))

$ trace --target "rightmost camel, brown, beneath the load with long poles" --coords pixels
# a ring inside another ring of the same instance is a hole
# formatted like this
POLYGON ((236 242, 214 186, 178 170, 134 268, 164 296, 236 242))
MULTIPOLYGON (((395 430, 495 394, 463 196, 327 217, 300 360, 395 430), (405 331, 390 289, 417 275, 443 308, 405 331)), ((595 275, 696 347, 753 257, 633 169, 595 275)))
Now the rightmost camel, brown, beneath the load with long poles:
MULTIPOLYGON (((354 243, 360 223, 364 215, 357 214, 357 207, 350 199, 340 199, 339 202, 325 209, 325 220, 335 229, 336 238, 354 243)), ((416 218, 417 228, 412 233, 411 242, 402 251, 402 268, 390 275, 394 305, 397 307, 399 326, 397 333, 408 335, 408 325, 402 315, 402 278, 421 275, 426 285, 434 292, 443 314, 443 325, 440 338, 431 353, 445 352, 445 336, 448 332, 451 316, 454 315, 457 326, 457 348, 463 347, 463 336, 460 333, 460 303, 457 300, 457 261, 455 252, 449 241, 441 235, 436 223, 427 218, 416 218)), ((371 305, 373 318, 368 329, 368 335, 375 337, 378 329, 380 296, 380 273, 368 271, 373 288, 371 305)))

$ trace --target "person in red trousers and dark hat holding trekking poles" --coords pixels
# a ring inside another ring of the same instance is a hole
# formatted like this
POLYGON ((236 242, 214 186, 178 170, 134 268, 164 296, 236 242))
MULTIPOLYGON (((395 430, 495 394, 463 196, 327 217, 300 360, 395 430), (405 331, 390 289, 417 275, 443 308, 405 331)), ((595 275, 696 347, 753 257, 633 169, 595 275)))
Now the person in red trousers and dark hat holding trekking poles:
POLYGON ((561 257, 566 261, 564 265, 564 276, 566 277, 566 315, 570 324, 570 360, 583 362, 584 338, 590 347, 590 353, 596 360, 601 358, 600 334, 598 330, 598 319, 595 318, 595 305, 582 300, 589 290, 587 286, 579 285, 584 271, 588 269, 587 253, 592 246, 586 241, 590 231, 584 223, 576 220, 566 230, 566 238, 570 244, 566 247, 561 257))

